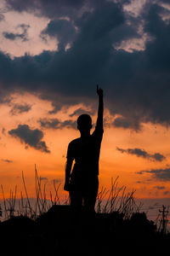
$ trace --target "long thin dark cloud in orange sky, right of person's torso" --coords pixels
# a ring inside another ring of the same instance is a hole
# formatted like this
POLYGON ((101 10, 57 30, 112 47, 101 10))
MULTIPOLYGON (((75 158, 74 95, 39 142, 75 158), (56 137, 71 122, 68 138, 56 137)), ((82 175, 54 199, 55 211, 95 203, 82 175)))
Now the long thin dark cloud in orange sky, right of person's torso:
POLYGON ((144 149, 140 149, 140 148, 127 148, 127 149, 116 148, 116 149, 121 153, 134 154, 138 157, 142 157, 147 160, 156 160, 161 162, 162 160, 166 159, 166 157, 160 153, 149 154, 144 149))

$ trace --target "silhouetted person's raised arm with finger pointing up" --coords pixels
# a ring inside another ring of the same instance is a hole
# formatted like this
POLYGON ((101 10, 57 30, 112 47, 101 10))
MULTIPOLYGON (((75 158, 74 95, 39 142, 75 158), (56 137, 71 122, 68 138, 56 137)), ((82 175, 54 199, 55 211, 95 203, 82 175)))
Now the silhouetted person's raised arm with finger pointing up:
POLYGON ((104 100, 103 100, 103 90, 97 85, 97 94, 99 96, 99 108, 98 108, 98 119, 96 127, 103 130, 103 116, 104 116, 104 100))

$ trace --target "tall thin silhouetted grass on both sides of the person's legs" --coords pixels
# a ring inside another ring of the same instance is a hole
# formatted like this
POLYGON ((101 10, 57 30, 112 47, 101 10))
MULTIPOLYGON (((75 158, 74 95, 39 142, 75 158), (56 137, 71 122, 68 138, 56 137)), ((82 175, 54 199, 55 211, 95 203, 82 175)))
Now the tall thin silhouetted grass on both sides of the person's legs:
MULTIPOLYGON (((54 205, 69 204, 69 196, 65 201, 59 200, 59 188, 61 183, 56 185, 54 181, 54 195, 51 191, 46 191, 46 184, 42 185, 42 180, 41 177, 38 176, 36 165, 36 197, 34 200, 28 195, 24 172, 22 172, 22 182, 25 189, 25 197, 23 196, 23 192, 20 192, 20 195, 18 196, 17 186, 15 186, 14 192, 10 189, 10 196, 6 199, 4 196, 3 185, 1 185, 3 209, 0 209, 0 216, 2 216, 3 219, 13 218, 14 216, 26 216, 35 220, 41 214, 48 212, 48 210, 54 205)), ((134 194, 135 190, 127 192, 127 188, 125 186, 118 186, 118 177, 116 177, 115 181, 111 178, 111 189, 104 189, 102 187, 97 195, 95 211, 97 213, 119 212, 124 216, 124 218, 131 218, 133 213, 139 212, 141 208, 141 204, 136 203, 134 194)))

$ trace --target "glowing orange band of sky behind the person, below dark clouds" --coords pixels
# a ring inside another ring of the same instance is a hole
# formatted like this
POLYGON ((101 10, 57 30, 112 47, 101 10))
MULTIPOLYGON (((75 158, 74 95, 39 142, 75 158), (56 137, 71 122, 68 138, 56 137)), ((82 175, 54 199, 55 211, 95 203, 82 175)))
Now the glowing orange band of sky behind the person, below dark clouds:
MULTIPOLYGON (((96 99, 96 108, 97 108, 96 99)), ((18 191, 24 191, 21 179, 21 172, 24 171, 26 185, 29 196, 35 195, 34 165, 37 165, 38 173, 45 177, 42 183, 46 183, 47 191, 53 190, 53 180, 61 183, 60 195, 67 195, 63 190, 65 177, 65 154, 68 143, 79 137, 79 132, 74 129, 43 129, 43 140, 47 144, 50 154, 42 153, 35 148, 20 143, 19 138, 11 137, 8 131, 15 129, 18 125, 27 124, 31 129, 42 129, 38 119, 47 118, 48 111, 52 109, 51 103, 39 100, 36 96, 14 95, 13 101, 3 104, 0 107, 1 115, 1 139, 0 139, 0 180, 3 184, 5 195, 8 196, 9 190, 18 186, 18 191), (10 113, 13 104, 28 103, 31 110, 28 113, 10 113), (11 160, 7 163, 5 160, 11 160)), ((50 115, 50 118, 57 118, 64 121, 69 118, 69 114, 80 105, 69 109, 61 109, 59 113, 50 115)), ((110 114, 105 110, 105 118, 110 119, 110 114)), ((71 119, 71 118, 70 118, 71 119)), ((77 117, 72 117, 77 119, 77 117)), ((96 116, 93 117, 95 122, 96 116)), ((168 197, 164 195, 169 190, 169 182, 157 181, 150 174, 139 175, 136 172, 159 169, 168 167, 170 134, 165 127, 155 125, 144 125, 143 130, 136 132, 124 129, 109 127, 105 123, 105 133, 101 147, 100 164, 99 164, 99 183, 101 186, 109 188, 111 186, 111 177, 115 179, 119 176, 120 186, 125 185, 127 189, 136 189, 137 197, 168 197), (143 148, 150 154, 159 152, 166 156, 166 160, 161 162, 146 160, 136 155, 122 154, 116 150, 118 148, 143 148), (164 186, 164 189, 156 187, 164 186)), ((48 194, 47 192, 47 194, 48 194)), ((2 197, 2 193, 1 193, 2 197)))

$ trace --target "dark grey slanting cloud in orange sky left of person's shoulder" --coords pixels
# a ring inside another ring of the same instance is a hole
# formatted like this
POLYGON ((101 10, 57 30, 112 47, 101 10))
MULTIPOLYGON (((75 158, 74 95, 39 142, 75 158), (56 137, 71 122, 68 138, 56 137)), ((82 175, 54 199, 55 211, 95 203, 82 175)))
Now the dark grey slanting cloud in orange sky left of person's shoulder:
POLYGON ((20 138, 20 142, 25 143, 26 146, 50 153, 46 143, 42 141, 43 132, 38 129, 31 129, 29 125, 18 125, 16 129, 8 131, 8 134, 20 138))

